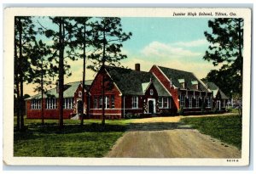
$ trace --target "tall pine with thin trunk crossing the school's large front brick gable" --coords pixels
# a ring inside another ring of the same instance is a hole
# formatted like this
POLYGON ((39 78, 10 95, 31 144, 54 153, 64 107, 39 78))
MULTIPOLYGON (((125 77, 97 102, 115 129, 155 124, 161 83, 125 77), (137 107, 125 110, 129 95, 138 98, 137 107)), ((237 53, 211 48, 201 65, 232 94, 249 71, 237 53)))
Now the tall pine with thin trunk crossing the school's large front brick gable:
MULTIPOLYGON (((131 37, 131 32, 122 29, 121 19, 116 17, 98 18, 93 25, 93 45, 95 53, 90 54, 93 65, 91 70, 105 70, 105 65, 120 65, 120 60, 127 58, 121 53, 122 42, 131 37)), ((102 125, 105 125, 105 76, 102 73, 102 125)))

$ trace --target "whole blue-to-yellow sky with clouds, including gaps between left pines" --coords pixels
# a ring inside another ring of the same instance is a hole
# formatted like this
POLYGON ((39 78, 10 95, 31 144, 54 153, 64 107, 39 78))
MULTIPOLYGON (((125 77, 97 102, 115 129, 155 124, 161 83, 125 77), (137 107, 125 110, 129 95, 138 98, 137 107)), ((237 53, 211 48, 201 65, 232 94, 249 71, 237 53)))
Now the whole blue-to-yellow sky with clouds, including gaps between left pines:
MULTIPOLYGON (((38 19, 47 28, 52 25, 47 17, 38 19)), ((121 18, 123 30, 131 31, 131 39, 123 42, 123 53, 127 59, 121 61, 125 67, 134 69, 136 63, 141 70, 148 71, 152 65, 161 65, 177 70, 187 70, 203 78, 214 67, 211 62, 202 59, 209 43, 204 31, 211 31, 207 18, 121 18)), ((37 24, 38 25, 38 24, 37 24)), ((44 38, 45 39, 45 38, 44 38)), ((51 42, 50 40, 45 42, 51 42)), ((65 83, 82 80, 82 59, 70 61, 73 76, 65 83)), ((90 62, 88 62, 90 64, 90 62)), ((87 70, 86 79, 93 79, 95 72, 87 70)), ((25 93, 34 94, 33 85, 26 85, 25 93)))

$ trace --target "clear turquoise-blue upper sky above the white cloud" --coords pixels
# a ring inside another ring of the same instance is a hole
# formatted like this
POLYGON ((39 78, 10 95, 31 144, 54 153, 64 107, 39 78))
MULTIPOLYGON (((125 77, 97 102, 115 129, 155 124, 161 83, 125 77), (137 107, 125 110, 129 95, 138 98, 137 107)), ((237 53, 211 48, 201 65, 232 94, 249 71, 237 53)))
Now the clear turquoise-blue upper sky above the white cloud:
POLYGON ((189 42, 204 39, 204 31, 209 31, 209 19, 191 18, 122 18, 125 31, 131 31, 131 40, 125 48, 137 52, 148 42, 189 42))

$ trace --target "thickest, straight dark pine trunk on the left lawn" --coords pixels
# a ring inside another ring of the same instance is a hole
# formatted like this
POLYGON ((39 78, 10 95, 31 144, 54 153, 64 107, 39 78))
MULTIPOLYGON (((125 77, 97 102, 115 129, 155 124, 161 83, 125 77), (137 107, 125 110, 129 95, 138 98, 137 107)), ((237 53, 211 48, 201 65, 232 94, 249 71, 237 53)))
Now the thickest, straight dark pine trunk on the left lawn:
POLYGON ((58 108, 59 108, 59 129, 61 130, 63 128, 63 89, 64 89, 64 78, 63 78, 63 62, 64 62, 64 42, 63 42, 63 36, 64 36, 64 27, 63 27, 63 21, 62 18, 60 17, 60 25, 59 25, 59 53, 60 53, 60 59, 59 59, 59 103, 58 103, 58 108), (63 31, 62 31, 63 30, 63 31), (62 33, 63 32, 63 33, 62 33))

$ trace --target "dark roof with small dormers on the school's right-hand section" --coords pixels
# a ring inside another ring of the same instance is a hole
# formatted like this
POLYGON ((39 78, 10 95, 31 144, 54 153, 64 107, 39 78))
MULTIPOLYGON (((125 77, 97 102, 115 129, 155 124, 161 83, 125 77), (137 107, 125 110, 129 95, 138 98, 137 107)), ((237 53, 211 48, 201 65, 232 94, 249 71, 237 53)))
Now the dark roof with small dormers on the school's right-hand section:
POLYGON ((166 77, 169 80, 172 79, 172 84, 175 87, 182 89, 183 87, 181 86, 181 83, 179 81, 185 81, 186 89, 195 90, 195 89, 193 89, 192 82, 198 81, 199 90, 209 92, 207 90, 207 87, 205 87, 205 84, 203 84, 198 78, 196 78, 196 76, 192 72, 183 71, 183 70, 175 70, 172 68, 166 68, 166 67, 162 67, 162 66, 158 66, 158 67, 166 75, 166 77))

